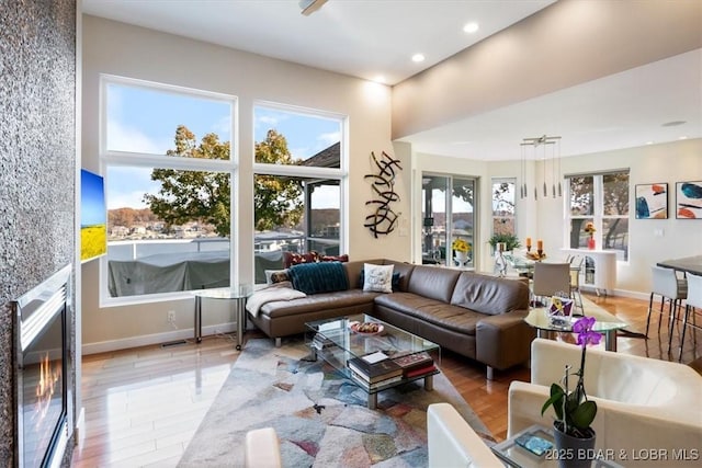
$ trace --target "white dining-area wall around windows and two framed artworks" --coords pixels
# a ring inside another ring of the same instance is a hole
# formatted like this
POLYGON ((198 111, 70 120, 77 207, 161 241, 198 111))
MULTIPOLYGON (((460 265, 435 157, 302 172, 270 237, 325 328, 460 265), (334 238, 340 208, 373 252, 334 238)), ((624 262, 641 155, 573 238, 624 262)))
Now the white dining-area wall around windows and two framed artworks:
MULTIPOLYGON (((519 161, 485 162, 461 160, 435 155, 415 155, 414 180, 421 186, 421 171, 465 174, 479 178, 480 226, 476 247, 479 249, 478 271, 491 271, 492 260, 487 239, 490 236, 490 179, 517 178, 521 183, 519 161)), ((650 292, 650 265, 667 259, 702 254, 702 220, 676 219, 675 183, 681 181, 702 181, 702 139, 681 140, 670 144, 650 145, 616 151, 581 155, 563 158, 563 174, 599 172, 614 169, 630 169, 630 259, 618 262, 615 294, 645 298, 650 292), (635 219, 634 186, 636 184, 668 183, 668 219, 635 219), (664 236, 656 237, 655 230, 663 229, 664 236)), ((542 186, 543 171, 541 162, 528 164, 526 183, 530 196, 517 199, 517 235, 524 238, 543 239, 544 250, 554 258, 565 247, 565 203, 564 198, 543 198, 534 201, 533 187, 542 186)), ((551 183, 550 168, 546 171, 551 183)), ((565 190, 565 186, 564 186, 565 190)), ((519 194, 518 194, 519 195, 519 194)), ((421 193, 415 190, 414 197, 421 201, 421 193)), ((421 217, 421 206, 414 206, 415 218, 421 217)), ((419 225, 415 233, 421 231, 419 225)), ((419 251, 419 254, 421 252, 419 251)), ((417 255, 417 248, 415 248, 417 255)), ((565 256, 565 255, 563 255, 565 256)), ((418 256, 415 256, 418 258, 418 256)))

